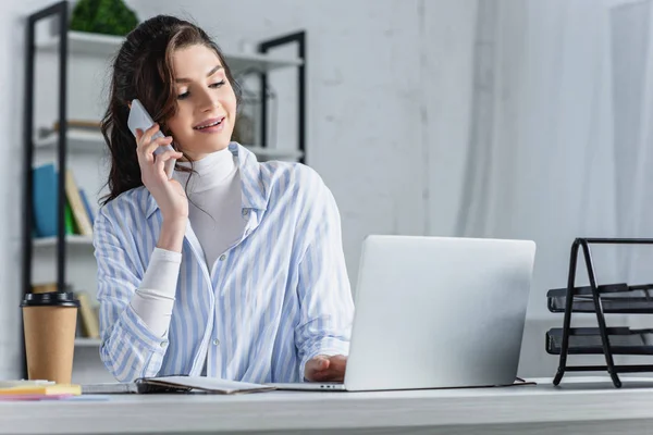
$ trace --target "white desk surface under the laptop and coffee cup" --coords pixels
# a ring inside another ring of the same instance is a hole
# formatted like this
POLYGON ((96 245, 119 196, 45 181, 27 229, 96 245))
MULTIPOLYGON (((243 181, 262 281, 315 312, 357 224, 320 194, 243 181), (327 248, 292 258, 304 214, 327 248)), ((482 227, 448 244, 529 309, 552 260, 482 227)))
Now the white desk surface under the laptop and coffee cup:
POLYGON ((243 396, 126 395, 0 402, 0 434, 653 433, 653 383, 243 396))

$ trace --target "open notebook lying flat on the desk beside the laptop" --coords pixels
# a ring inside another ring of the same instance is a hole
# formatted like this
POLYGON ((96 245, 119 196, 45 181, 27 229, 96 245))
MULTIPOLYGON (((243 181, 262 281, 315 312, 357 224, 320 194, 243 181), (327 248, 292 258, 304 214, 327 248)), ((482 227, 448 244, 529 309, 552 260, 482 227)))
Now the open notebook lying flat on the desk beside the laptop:
POLYGON ((274 389, 276 388, 271 385, 186 375, 140 377, 133 383, 82 385, 82 394, 206 393, 233 395, 271 391, 274 389))

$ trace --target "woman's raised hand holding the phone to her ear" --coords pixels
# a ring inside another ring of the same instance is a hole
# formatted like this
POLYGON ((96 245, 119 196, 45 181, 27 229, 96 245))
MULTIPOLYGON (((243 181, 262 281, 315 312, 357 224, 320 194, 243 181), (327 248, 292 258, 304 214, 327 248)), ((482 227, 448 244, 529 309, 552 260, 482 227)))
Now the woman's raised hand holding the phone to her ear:
POLYGON ((155 156, 158 147, 163 147, 172 142, 171 136, 158 137, 152 140, 152 136, 159 132, 159 124, 150 128, 136 129, 136 154, 140 165, 140 177, 143 184, 152 195, 164 222, 182 222, 188 217, 188 198, 184 188, 174 178, 168 178, 164 165, 170 159, 181 159, 183 154, 178 151, 164 151, 155 156))

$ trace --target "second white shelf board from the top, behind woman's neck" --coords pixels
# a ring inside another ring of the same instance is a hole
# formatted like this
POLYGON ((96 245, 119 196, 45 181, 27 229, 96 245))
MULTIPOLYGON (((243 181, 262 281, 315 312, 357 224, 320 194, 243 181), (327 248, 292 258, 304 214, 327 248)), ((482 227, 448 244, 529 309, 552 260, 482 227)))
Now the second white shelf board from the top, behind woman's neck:
MULTIPOLYGON (((59 134, 52 133, 46 137, 35 139, 34 146, 39 150, 54 150, 59 140, 59 134)), ((67 147, 74 152, 102 152, 104 151, 104 137, 99 132, 86 132, 71 128, 67 132, 67 147)), ((260 161, 266 160, 293 160, 303 157, 298 150, 279 150, 274 148, 262 148, 245 145, 245 148, 254 152, 260 161)))

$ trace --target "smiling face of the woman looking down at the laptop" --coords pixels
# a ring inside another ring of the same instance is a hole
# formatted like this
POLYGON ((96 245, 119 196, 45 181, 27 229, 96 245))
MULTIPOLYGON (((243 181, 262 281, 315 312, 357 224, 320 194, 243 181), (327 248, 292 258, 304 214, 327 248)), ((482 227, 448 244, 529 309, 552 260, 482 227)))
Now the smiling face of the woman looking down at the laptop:
POLYGON ((165 124, 177 148, 193 160, 222 150, 236 121, 236 96, 218 54, 202 45, 172 58, 176 113, 165 124))

